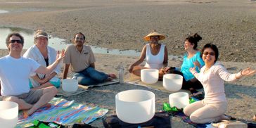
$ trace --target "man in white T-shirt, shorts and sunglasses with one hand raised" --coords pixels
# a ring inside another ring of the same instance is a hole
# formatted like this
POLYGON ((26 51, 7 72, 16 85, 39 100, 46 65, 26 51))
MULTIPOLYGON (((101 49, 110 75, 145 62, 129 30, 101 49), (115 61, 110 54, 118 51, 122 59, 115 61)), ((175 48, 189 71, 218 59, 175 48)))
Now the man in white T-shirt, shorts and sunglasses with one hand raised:
POLYGON ((1 95, 4 101, 18 103, 19 110, 25 110, 25 117, 32 115, 38 108, 48 105, 56 95, 56 87, 30 90, 29 77, 33 72, 50 74, 65 56, 64 51, 57 60, 47 68, 30 58, 23 58, 24 39, 18 33, 8 34, 6 46, 9 54, 0 58, 1 95))

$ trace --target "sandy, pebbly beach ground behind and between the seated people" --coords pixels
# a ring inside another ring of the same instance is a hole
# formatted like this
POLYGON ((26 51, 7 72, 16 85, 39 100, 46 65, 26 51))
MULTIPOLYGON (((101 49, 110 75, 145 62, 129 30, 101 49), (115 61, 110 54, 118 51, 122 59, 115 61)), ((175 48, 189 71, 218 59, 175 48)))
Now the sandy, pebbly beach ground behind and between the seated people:
MULTIPOLYGON (((95 0, 95 1, 7 1, 0 0, 0 25, 22 27, 30 30, 45 30, 53 37, 72 42, 75 33, 82 32, 87 45, 108 49, 141 51, 143 41, 152 30, 165 34, 169 55, 183 56, 184 39, 188 34, 198 32, 204 44, 213 43, 219 48, 219 61, 229 72, 252 67, 256 69, 256 2, 243 0, 95 0)), ((7 35, 1 35, 7 37, 7 35)), ((5 43, 5 42, 0 42, 5 43)), ((26 42, 25 42, 26 43, 26 42)), ((0 56, 8 50, 0 49, 0 56)), ((96 69, 118 75, 120 62, 127 71, 138 56, 96 54, 96 69)), ((169 66, 180 67, 181 59, 169 58, 169 66)), ((70 74, 71 75, 71 72, 70 74)), ((62 77, 62 75, 60 75, 62 77)), ((146 89, 156 95, 156 111, 162 110, 162 103, 168 102, 168 95, 162 91, 133 84, 113 84, 95 87, 79 96, 66 99, 77 103, 98 105, 109 109, 107 115, 115 115, 115 94, 128 89, 146 89)), ((245 77, 237 82, 225 83, 228 100, 227 115, 245 122, 253 122, 256 113, 256 76, 245 77)), ((255 121, 254 121, 255 122, 255 121)), ((103 127, 101 120, 91 125, 103 127)), ((172 118, 172 127, 191 127, 177 117, 172 118)))

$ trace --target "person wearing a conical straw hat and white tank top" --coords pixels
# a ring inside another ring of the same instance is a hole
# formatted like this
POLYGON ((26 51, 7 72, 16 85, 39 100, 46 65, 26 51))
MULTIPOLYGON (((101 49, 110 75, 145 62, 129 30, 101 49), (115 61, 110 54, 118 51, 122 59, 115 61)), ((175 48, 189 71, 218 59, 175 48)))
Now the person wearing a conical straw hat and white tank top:
POLYGON ((143 37, 145 41, 149 41, 148 44, 143 46, 141 56, 135 63, 129 65, 129 72, 136 76, 141 76, 141 70, 150 68, 158 69, 159 77, 163 76, 162 67, 168 65, 168 53, 167 48, 164 44, 160 44, 159 41, 165 39, 165 35, 156 32, 155 30, 146 37, 143 37), (146 59, 146 65, 141 66, 140 64, 146 59))

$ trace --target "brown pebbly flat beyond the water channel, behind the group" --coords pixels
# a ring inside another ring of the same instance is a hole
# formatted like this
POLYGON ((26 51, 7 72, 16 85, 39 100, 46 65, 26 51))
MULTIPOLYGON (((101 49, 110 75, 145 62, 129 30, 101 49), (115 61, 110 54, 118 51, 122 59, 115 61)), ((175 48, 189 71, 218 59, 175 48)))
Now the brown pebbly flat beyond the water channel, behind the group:
POLYGON ((0 24, 46 30, 67 41, 73 34, 83 32, 90 46, 135 51, 141 51, 146 44, 143 41, 146 34, 157 30, 167 36, 161 43, 166 44, 168 53, 174 56, 184 54, 187 34, 198 32, 203 37, 198 49, 213 42, 219 48, 219 60, 256 62, 252 52, 256 51, 256 10, 253 9, 256 2, 133 1, 134 4, 122 0, 63 1, 56 4, 49 0, 32 0, 20 2, 16 8, 17 3, 2 0, 0 8, 10 13, 0 14, 0 24))

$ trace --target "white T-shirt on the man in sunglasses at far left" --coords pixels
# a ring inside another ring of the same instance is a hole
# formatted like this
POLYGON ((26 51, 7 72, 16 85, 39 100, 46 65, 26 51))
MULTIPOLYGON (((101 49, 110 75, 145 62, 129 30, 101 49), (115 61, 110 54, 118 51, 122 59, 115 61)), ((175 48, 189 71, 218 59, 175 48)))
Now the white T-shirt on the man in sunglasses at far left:
POLYGON ((29 77, 40 65, 30 58, 11 56, 0 58, 1 94, 3 96, 17 96, 28 93, 29 77))

